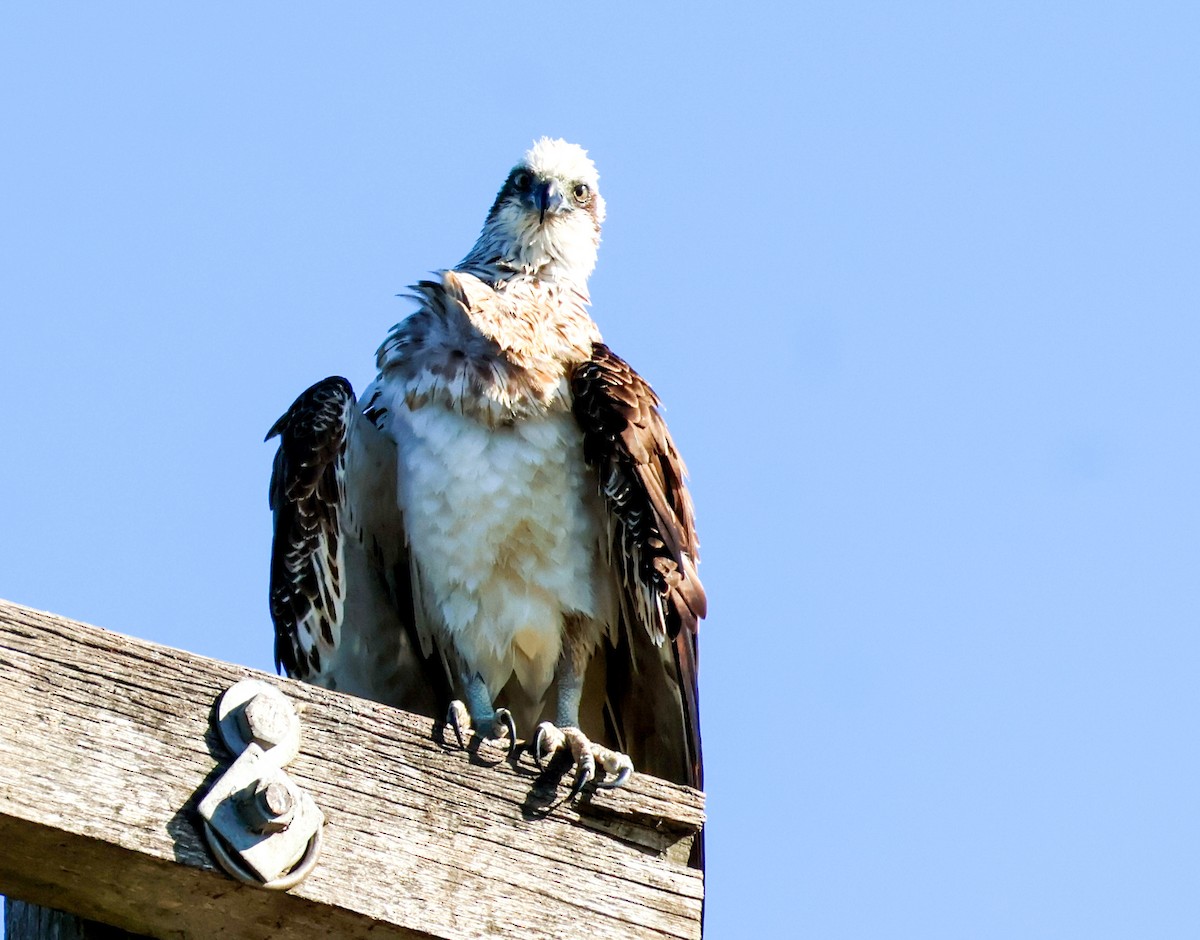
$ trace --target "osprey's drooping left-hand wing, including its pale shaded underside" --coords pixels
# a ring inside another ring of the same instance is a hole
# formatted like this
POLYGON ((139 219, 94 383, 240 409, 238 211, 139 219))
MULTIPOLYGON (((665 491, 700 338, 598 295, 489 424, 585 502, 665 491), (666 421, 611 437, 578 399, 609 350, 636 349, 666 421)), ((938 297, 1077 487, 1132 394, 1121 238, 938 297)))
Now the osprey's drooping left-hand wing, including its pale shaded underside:
POLYGON ((318 382, 268 433, 280 438, 270 607, 275 661, 294 678, 434 716, 445 670, 413 622, 396 447, 341 377, 318 382))

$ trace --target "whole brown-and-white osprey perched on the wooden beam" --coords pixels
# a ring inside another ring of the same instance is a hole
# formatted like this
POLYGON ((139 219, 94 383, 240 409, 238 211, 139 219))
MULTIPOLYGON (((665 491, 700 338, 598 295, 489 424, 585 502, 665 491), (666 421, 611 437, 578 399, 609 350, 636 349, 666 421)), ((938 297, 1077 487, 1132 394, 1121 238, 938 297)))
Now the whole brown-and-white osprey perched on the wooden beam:
POLYGON ((692 503, 658 397, 588 316, 598 182, 536 140, 361 401, 326 378, 271 427, 276 666, 460 743, 533 729, 575 789, 634 765, 700 788, 692 503))

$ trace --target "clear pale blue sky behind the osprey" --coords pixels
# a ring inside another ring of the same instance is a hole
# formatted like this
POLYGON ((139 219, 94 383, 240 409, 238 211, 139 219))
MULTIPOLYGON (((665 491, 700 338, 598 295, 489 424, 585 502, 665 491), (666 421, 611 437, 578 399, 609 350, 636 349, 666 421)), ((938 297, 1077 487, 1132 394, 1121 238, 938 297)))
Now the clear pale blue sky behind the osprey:
POLYGON ((1198 48, 1183 2, 10 1, 0 595, 270 669, 264 432, 563 136, 692 472, 709 936, 1194 938, 1198 48))

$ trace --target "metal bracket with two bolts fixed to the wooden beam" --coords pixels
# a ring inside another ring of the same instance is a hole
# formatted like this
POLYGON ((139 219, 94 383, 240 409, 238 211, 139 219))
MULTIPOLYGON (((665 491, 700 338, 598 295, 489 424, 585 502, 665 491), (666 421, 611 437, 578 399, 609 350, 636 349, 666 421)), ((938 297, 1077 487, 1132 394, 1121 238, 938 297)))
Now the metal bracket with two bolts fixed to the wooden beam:
POLYGON ((300 718, 277 688, 242 679, 217 701, 215 724, 238 758, 200 801, 209 848, 239 881, 287 891, 317 864, 325 824, 283 772, 300 750, 300 718))

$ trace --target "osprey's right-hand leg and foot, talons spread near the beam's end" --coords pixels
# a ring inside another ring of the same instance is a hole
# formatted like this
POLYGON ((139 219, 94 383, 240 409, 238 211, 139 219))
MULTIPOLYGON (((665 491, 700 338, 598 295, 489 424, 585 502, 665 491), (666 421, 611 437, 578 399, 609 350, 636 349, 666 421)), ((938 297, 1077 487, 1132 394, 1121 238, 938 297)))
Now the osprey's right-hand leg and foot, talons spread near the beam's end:
POLYGON ((558 664, 557 725, 550 722, 538 725, 533 744, 533 754, 539 764, 560 748, 566 748, 576 767, 572 794, 577 794, 589 780, 595 779, 598 766, 605 772, 606 778, 611 776, 613 779, 600 780, 596 786, 622 786, 634 773, 634 762, 628 755, 593 744, 580 730, 583 673, 592 651, 582 647, 576 639, 577 633, 568 629, 563 641, 563 653, 558 664))

